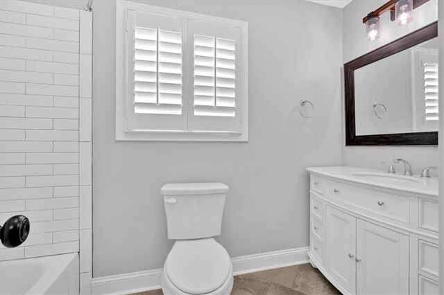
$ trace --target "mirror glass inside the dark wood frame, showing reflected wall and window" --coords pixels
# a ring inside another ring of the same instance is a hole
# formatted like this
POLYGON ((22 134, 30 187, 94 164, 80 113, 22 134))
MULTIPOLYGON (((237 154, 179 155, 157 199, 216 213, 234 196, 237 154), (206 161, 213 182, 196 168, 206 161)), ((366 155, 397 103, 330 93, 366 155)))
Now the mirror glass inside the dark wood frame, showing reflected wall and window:
POLYGON ((356 135, 438 130, 438 37, 355 70, 356 135))

